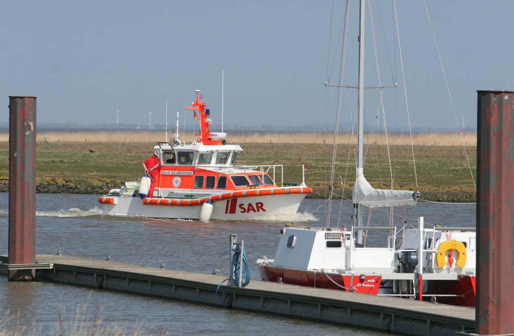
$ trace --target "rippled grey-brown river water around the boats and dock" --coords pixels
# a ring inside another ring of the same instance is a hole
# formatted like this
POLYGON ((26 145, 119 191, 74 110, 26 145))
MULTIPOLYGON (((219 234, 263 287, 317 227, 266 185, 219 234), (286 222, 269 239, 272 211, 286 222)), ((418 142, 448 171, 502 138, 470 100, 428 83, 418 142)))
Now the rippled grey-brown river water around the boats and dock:
MULTIPOLYGON (((273 257, 285 222, 301 221, 309 226, 323 226, 325 200, 305 200, 293 218, 273 221, 238 221, 201 223, 129 218, 102 218, 98 196, 76 194, 38 194, 36 200, 36 253, 125 261, 166 268, 228 275, 228 256, 218 258, 230 247, 229 235, 244 240, 252 279, 258 279, 254 260, 273 257), (312 214, 311 214, 312 213, 312 214)), ((0 255, 8 252, 8 193, 0 193, 0 255)), ((341 211, 336 201, 333 222, 341 214, 341 224, 351 225, 351 202, 341 211)), ((401 215, 401 211, 399 211, 401 215)), ((474 226, 475 205, 419 203, 408 209, 408 221, 425 217, 425 224, 474 226)), ((387 216, 381 216, 387 225, 387 216)), ((402 217, 395 222, 402 223, 402 217)), ((82 318, 116 323, 125 330, 139 327, 148 334, 171 335, 383 335, 382 333, 324 325, 241 311, 200 306, 168 299, 91 290, 46 282, 7 282, 0 275, 0 320, 9 311, 9 323, 41 329, 54 334, 59 319, 75 321, 77 310, 82 318)))

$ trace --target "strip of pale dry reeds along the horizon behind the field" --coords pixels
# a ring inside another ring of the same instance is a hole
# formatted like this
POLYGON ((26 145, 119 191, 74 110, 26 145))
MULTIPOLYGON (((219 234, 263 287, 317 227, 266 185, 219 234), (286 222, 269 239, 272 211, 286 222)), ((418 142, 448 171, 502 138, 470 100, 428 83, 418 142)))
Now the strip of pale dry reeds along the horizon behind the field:
MULTIPOLYGON (((168 132, 171 140, 171 132, 168 132)), ((156 143, 165 140, 163 131, 91 131, 91 132, 41 132, 36 134, 38 142, 48 143, 156 143)), ((197 138, 191 133, 180 136, 182 142, 191 143, 197 138)), ((0 133, 0 142, 8 142, 9 133, 0 133)), ((334 135, 328 132, 254 132, 229 133, 227 142, 230 144, 333 144, 334 135)), ((339 145, 350 145, 356 142, 356 134, 340 133, 339 145)), ((409 134, 367 133, 365 144, 410 146, 409 134)), ((416 133, 412 135, 413 146, 476 146, 476 132, 471 133, 416 133)))

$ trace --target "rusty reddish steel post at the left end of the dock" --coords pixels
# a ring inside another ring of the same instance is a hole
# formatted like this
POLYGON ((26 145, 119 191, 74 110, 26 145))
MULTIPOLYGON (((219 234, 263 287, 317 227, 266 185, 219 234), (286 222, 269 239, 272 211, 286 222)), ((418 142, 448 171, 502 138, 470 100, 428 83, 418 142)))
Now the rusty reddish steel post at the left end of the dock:
POLYGON ((35 112, 36 97, 9 97, 9 281, 35 278, 35 112))

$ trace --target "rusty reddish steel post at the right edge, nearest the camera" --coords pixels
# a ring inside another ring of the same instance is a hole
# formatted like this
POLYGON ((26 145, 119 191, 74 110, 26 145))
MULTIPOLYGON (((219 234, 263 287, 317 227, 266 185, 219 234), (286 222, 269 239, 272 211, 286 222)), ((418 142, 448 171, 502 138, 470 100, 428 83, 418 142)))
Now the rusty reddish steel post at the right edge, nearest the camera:
POLYGON ((513 91, 478 91, 475 323, 480 335, 514 332, 513 102, 513 91))

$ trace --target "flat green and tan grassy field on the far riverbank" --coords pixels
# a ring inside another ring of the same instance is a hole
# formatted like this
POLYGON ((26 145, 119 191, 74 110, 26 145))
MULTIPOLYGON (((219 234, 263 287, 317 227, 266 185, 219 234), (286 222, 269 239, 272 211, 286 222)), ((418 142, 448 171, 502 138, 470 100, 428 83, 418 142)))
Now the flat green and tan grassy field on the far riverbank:
MULTIPOLYGON (((284 165, 284 182, 301 182, 304 163, 307 185, 325 197, 334 148, 331 136, 310 132, 229 134, 227 141, 243 147, 237 164, 284 165)), ((38 183, 62 179, 87 185, 136 181, 143 174, 141 162, 163 137, 163 132, 150 131, 41 133, 37 136, 36 178, 38 183)), ((356 147, 351 134, 340 134, 339 139, 334 190, 348 195, 355 181, 356 147)), ((364 174, 373 186, 419 190, 422 199, 423 193, 475 192, 475 133, 416 134, 413 147, 408 135, 390 136, 389 143, 394 145, 389 147, 383 141, 383 135, 365 136, 364 174)), ((0 134, 0 179, 8 179, 8 163, 8 134, 0 134)))

